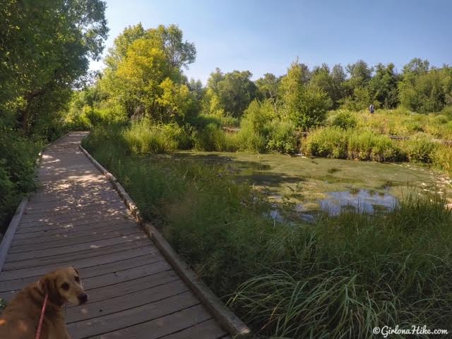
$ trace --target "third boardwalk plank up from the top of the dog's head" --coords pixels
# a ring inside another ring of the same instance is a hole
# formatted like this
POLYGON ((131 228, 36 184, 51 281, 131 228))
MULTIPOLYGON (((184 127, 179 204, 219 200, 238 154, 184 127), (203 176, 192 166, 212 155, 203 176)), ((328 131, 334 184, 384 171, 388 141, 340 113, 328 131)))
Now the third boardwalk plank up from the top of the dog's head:
POLYGON ((97 242, 86 242, 85 244, 77 244, 73 246, 61 246, 55 249, 42 249, 38 251, 28 251, 19 253, 10 253, 6 257, 6 262, 20 261, 31 258, 42 258, 46 256, 59 256, 61 254, 71 254, 79 251, 89 251, 91 249, 100 249, 105 246, 112 246, 115 244, 124 244, 125 242, 136 242, 137 240, 146 239, 143 232, 138 234, 131 234, 126 237, 116 237, 112 239, 100 240, 97 242))

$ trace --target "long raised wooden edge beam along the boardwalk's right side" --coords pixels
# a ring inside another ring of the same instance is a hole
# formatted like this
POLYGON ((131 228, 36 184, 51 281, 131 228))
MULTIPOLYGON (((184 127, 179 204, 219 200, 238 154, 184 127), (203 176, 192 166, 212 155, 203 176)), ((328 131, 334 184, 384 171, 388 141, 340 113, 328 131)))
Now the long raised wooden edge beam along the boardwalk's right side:
POLYGON ((138 224, 143 228, 144 232, 148 234, 150 239, 153 240, 155 246, 162 251, 162 254, 165 256, 167 261, 171 263, 174 270, 176 270, 182 280, 189 285, 192 292, 194 292, 194 294, 201 299, 201 302, 203 302, 204 306, 213 314, 213 316, 215 316, 215 319, 220 323, 220 325, 236 338, 250 335, 251 331, 248 326, 246 326, 238 316, 228 309, 220 298, 218 298, 217 295, 215 295, 212 290, 210 290, 210 288, 208 288, 206 284, 204 284, 203 281, 196 276, 194 271, 191 270, 181 258, 179 258, 176 251, 172 249, 172 246, 165 240, 162 234, 160 234, 160 232, 158 232, 153 225, 144 222, 136 203, 132 200, 129 194, 127 194, 124 187, 119 184, 116 177, 108 172, 105 167, 100 165, 100 163, 97 162, 97 160, 95 160, 82 145, 78 145, 78 148, 80 148, 83 154, 88 157, 90 162, 92 162, 93 165, 95 165, 95 167, 97 167, 97 169, 99 169, 100 172, 107 177, 109 182, 112 183, 114 189, 117 190, 122 201, 124 201, 127 208, 129 208, 138 224))

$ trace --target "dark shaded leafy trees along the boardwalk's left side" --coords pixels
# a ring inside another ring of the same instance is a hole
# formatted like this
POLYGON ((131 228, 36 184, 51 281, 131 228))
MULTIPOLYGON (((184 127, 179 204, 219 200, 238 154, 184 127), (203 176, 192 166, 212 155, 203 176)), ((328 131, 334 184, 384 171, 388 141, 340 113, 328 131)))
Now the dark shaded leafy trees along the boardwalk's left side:
POLYGON ((40 144, 107 37, 100 0, 0 1, 0 225, 32 186, 40 144))

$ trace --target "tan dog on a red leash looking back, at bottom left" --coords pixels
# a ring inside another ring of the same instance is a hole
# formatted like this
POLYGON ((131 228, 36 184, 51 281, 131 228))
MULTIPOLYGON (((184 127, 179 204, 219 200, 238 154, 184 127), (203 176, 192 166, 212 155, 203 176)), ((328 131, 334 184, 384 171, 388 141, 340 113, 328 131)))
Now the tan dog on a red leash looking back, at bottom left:
POLYGON ((88 296, 73 267, 55 270, 23 288, 0 314, 0 338, 35 339, 45 295, 49 296, 40 339, 70 339, 63 305, 84 304, 88 296))

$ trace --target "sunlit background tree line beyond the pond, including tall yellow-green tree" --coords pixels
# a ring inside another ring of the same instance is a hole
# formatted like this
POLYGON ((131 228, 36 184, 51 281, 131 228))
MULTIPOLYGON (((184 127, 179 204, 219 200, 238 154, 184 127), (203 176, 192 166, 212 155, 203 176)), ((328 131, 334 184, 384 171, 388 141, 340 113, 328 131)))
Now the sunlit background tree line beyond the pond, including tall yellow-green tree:
POLYGON ((148 117, 159 123, 186 124, 200 114, 242 119, 251 102, 258 100, 270 102, 268 107, 280 121, 309 129, 322 124, 329 109, 402 105, 427 113, 452 103, 452 69, 436 69, 427 60, 412 59, 401 73, 394 64, 371 67, 362 60, 345 67, 323 64, 312 69, 296 60, 285 75, 266 73, 256 81, 250 71, 215 69, 203 87, 184 76, 195 57, 194 44, 183 40, 176 25, 126 28, 114 40, 105 58, 107 68, 95 85, 76 94, 78 104, 72 115, 78 116, 85 107, 88 116, 97 109, 104 117, 123 112, 126 119, 148 117), (93 92, 95 107, 84 101, 92 99, 93 92))

